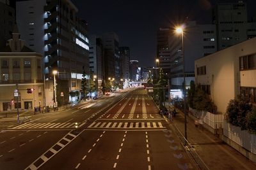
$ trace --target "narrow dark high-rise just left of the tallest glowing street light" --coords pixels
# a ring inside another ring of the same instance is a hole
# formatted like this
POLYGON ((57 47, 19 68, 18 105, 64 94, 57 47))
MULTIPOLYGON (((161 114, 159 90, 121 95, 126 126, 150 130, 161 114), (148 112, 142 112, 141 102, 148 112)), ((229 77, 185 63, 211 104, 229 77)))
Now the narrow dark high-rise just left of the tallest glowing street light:
POLYGON ((168 38, 170 37, 169 28, 159 28, 157 31, 157 59, 159 59, 159 65, 168 78, 170 77, 170 49, 168 38))

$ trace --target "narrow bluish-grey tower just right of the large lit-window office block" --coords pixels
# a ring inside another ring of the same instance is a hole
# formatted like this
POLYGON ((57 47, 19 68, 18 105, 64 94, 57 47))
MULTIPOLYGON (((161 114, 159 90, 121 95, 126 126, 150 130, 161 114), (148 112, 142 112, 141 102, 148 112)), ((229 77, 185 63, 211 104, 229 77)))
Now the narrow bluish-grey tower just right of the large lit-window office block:
POLYGON ((90 50, 89 50, 89 59, 90 59, 90 72, 92 72, 97 77, 97 87, 99 94, 101 93, 100 87, 102 81, 105 80, 104 77, 104 48, 102 45, 102 39, 97 38, 95 35, 89 36, 90 40, 90 50))

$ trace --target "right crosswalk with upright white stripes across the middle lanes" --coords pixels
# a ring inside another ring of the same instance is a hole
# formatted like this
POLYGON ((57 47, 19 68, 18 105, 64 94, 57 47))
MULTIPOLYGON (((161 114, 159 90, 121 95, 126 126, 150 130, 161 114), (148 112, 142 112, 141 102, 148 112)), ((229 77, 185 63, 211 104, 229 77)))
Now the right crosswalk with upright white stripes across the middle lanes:
POLYGON ((93 122, 88 128, 103 128, 103 129, 163 129, 161 122, 93 122))

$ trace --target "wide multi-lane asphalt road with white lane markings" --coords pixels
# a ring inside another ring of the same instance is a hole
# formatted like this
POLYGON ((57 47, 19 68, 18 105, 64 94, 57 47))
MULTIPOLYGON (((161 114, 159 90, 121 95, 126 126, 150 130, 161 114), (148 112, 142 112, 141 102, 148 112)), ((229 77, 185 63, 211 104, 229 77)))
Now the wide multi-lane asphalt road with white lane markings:
POLYGON ((0 169, 197 167, 146 90, 136 89, 1 131, 0 169))

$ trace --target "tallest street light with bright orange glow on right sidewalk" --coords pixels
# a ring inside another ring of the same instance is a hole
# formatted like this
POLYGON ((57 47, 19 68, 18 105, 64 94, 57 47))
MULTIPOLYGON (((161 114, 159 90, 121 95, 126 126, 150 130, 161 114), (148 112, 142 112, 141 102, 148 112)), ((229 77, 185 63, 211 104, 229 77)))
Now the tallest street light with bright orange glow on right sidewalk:
POLYGON ((187 111, 186 111, 186 77, 185 77, 185 55, 184 55, 184 26, 181 27, 177 27, 175 29, 175 31, 178 34, 181 34, 181 39, 182 39, 182 55, 183 55, 183 82, 184 82, 184 116, 185 116, 185 120, 184 120, 184 124, 185 124, 185 141, 184 144, 187 144, 187 139, 188 139, 188 134, 187 134, 187 111))

